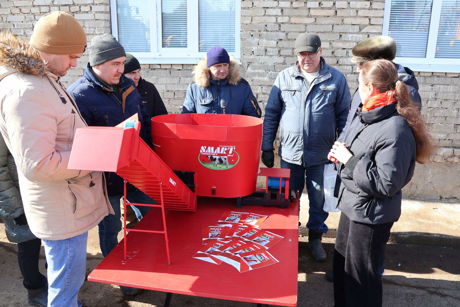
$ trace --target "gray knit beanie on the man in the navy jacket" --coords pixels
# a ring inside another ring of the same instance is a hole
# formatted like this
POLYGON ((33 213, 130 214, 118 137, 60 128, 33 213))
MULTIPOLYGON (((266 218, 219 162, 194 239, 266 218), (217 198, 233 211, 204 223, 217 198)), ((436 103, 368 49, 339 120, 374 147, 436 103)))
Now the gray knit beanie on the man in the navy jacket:
POLYGON ((106 33, 94 36, 89 46, 89 64, 95 66, 114 58, 126 57, 125 48, 113 37, 106 33))

